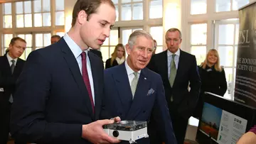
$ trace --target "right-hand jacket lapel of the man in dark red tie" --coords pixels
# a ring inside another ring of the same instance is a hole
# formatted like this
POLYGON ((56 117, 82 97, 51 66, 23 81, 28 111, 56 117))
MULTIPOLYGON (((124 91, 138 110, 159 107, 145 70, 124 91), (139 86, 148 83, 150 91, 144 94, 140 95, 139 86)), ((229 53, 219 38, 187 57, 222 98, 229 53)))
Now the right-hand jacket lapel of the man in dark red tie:
POLYGON ((98 69, 99 65, 97 65, 95 63, 95 58, 94 55, 91 54, 90 51, 88 51, 88 57, 90 59, 90 65, 91 65, 91 69, 92 69, 92 79, 93 79, 93 87, 94 87, 94 92, 95 92, 95 119, 97 120, 99 115, 100 115, 100 106, 101 106, 101 97, 100 95, 97 93, 99 92, 99 77, 98 76, 98 72, 101 69, 98 69))

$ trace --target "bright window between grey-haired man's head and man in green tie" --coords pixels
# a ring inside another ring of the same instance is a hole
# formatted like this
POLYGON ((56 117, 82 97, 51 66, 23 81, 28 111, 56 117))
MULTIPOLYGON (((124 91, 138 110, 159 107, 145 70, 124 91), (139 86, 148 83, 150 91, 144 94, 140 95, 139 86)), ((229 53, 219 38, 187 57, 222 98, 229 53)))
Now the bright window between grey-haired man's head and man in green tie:
POLYGON ((163 26, 154 26, 150 28, 150 34, 156 40, 156 53, 163 51, 163 26))

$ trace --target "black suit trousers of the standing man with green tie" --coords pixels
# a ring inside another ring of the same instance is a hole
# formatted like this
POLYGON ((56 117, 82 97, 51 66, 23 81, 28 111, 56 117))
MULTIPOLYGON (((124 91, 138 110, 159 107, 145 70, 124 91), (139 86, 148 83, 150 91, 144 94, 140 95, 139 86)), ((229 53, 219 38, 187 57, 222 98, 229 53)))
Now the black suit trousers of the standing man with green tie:
POLYGON ((188 119, 178 115, 178 113, 170 111, 171 120, 173 123, 174 134, 178 144, 183 144, 188 127, 188 119))

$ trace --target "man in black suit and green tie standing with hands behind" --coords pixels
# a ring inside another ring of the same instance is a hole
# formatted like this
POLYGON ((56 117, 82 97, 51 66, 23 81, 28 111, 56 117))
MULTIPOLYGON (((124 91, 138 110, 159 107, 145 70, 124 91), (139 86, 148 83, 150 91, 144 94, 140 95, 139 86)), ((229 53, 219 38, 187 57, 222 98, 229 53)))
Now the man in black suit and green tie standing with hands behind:
MULTIPOLYGON (((148 67, 161 75, 173 120, 174 133, 178 144, 183 144, 188 118, 192 116, 198 101, 201 79, 198 74, 196 57, 180 50, 181 31, 178 28, 170 28, 165 38, 168 50, 154 55, 148 67)), ((154 140, 160 138, 158 133, 154 134, 154 140)), ((161 143, 161 140, 158 141, 152 144, 161 143)))

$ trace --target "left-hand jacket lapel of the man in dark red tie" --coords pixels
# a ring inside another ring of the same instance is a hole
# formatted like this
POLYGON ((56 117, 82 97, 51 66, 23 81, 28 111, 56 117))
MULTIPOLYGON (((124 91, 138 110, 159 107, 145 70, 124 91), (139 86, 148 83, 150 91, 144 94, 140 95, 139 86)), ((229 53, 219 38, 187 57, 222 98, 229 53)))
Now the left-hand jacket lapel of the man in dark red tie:
POLYGON ((91 115, 91 118, 94 119, 89 94, 88 94, 87 89, 85 87, 85 83, 82 80, 82 74, 80 72, 78 62, 75 59, 75 57, 73 55, 73 52, 70 50, 70 48, 65 43, 65 40, 63 38, 60 39, 59 44, 60 44, 61 50, 63 51, 63 57, 64 57, 65 61, 67 62, 68 67, 70 68, 70 71, 73 75, 73 78, 75 79, 75 82, 78 84, 78 87, 81 91, 82 96, 85 96, 87 110, 89 111, 89 113, 91 115))

